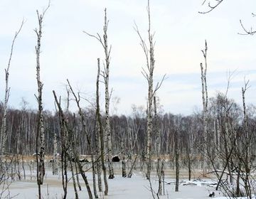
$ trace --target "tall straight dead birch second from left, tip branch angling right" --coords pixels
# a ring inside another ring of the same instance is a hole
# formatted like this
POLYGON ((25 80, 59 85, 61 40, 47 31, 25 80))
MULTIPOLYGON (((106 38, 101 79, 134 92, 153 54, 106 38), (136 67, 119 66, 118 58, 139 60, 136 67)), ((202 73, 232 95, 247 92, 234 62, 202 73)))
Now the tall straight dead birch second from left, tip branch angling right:
POLYGON ((45 156, 45 129, 43 121, 43 100, 42 100, 42 90, 43 83, 41 82, 40 77, 40 54, 41 54, 41 37, 42 37, 42 23, 43 17, 46 14, 46 11, 50 7, 50 1, 48 7, 43 11, 42 14, 39 14, 38 10, 36 11, 38 16, 38 28, 35 29, 37 36, 37 45, 36 45, 36 80, 38 85, 38 95, 36 96, 38 102, 38 122, 36 130, 36 163, 37 163, 37 183, 38 183, 38 198, 41 199, 41 185, 43 184, 43 178, 45 175, 45 166, 44 166, 44 156, 45 156), (40 147, 39 147, 40 144, 40 147))

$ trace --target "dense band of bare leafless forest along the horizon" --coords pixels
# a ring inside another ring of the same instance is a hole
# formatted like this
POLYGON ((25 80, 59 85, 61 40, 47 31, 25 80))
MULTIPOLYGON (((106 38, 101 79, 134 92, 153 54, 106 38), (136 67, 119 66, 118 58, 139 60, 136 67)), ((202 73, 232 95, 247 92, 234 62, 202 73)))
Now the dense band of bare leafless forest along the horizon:
MULTIPOLYGON (((142 107, 134 106, 131 115, 112 115, 110 117, 110 127, 112 134, 113 154, 124 153, 126 156, 134 154, 143 155, 145 138, 146 138, 146 112, 142 107), (123 146, 122 146, 123 145, 123 146), (124 150, 124 151, 121 151, 124 150)), ((252 104, 247 107, 248 114, 248 131, 252 143, 255 143, 255 127, 256 127, 256 109, 252 104)), ((90 137, 94 139, 95 135, 95 109, 87 107, 82 109, 86 116, 86 127, 90 133, 90 137)), ((79 114, 68 112, 70 127, 72 127, 76 143, 78 144, 80 154, 90 154, 88 149, 86 135, 82 133, 82 124, 80 122, 79 114)), ((1 105, 2 115, 2 105, 1 105)), ((60 143, 60 122, 58 112, 43 112, 46 127, 46 154, 53 156, 53 139, 54 134, 57 134, 58 143, 60 143)), ((245 131, 242 107, 233 101, 227 99, 224 94, 218 93, 214 98, 210 98, 209 107, 209 123, 207 142, 210 150, 213 153, 220 153, 223 151, 227 142, 224 139, 226 134, 228 138, 242 135, 245 131), (227 123, 228 122, 228 123, 227 123), (226 129, 225 125, 231 125, 233 131, 226 129)), ((37 111, 26 109, 26 102, 23 102, 22 109, 8 109, 7 114, 7 154, 21 154, 25 156, 32 156, 36 151, 36 128, 37 128, 37 111)), ((102 117, 102 121, 104 117, 102 117)), ((171 113, 161 113, 154 118, 157 120, 157 126, 161 140, 161 154, 170 155, 174 157, 174 134, 178 132, 179 149, 182 161, 188 161, 190 156, 193 161, 200 161, 202 159, 201 145, 203 144, 203 118, 201 112, 195 112, 188 116, 181 114, 175 115, 171 113)), ((152 136, 152 143, 156 143, 156 133, 152 136)), ((60 144, 58 145, 60 146, 60 144)), ((255 144, 250 148, 251 153, 255 154, 255 144)), ((156 154, 156 146, 153 147, 154 154, 156 154)), ((60 152, 60 149, 58 149, 60 152)))

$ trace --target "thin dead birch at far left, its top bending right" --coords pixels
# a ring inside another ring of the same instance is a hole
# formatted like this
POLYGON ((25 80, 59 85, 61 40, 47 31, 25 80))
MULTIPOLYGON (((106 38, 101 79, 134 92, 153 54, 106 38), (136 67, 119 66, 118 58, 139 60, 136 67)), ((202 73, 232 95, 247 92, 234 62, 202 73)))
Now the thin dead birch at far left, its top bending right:
POLYGON ((10 87, 9 87, 9 69, 11 66, 11 58, 14 52, 14 43, 16 41, 16 38, 18 37, 18 33, 21 32, 21 28, 23 27, 24 21, 21 22, 21 26, 16 31, 14 35, 14 39, 11 43, 11 53, 9 56, 9 61, 7 64, 7 68, 5 69, 5 92, 4 92, 4 106, 3 106, 3 117, 2 117, 2 122, 1 122, 1 140, 0 140, 0 166, 1 166, 1 156, 4 155, 6 152, 6 139, 7 139, 7 129, 6 129, 6 119, 7 119, 7 106, 8 106, 8 101, 9 101, 9 96, 10 96, 10 87))

